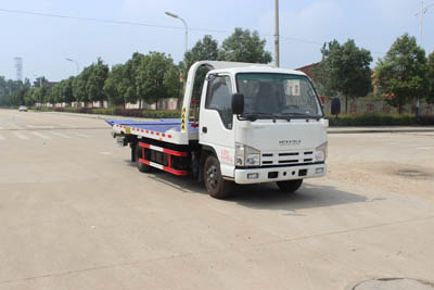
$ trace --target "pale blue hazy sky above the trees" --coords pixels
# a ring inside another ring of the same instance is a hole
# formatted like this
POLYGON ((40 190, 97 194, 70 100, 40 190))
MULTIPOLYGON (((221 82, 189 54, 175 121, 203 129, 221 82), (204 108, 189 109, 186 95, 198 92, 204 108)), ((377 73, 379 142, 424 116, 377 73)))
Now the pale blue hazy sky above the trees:
MULTIPOLYGON (((425 0, 425 4, 434 0, 425 0)), ((321 60, 321 47, 348 38, 378 58, 405 33, 420 41, 420 0, 280 0, 280 66, 297 68, 321 60)), ((257 30, 275 51, 275 0, 0 0, 0 76, 16 78, 14 58, 23 58, 23 77, 46 76, 59 81, 77 74, 99 56, 110 66, 124 63, 139 51, 165 52, 176 63, 184 53, 182 23, 165 15, 178 14, 189 26, 191 49, 204 35, 219 43, 235 27, 257 30), (18 10, 74 17, 126 21, 151 26, 11 13, 18 10), (156 25, 156 26, 152 26, 156 25), (157 27, 166 26, 166 27, 157 27)), ((423 18, 422 47, 434 51, 434 5, 423 18)))

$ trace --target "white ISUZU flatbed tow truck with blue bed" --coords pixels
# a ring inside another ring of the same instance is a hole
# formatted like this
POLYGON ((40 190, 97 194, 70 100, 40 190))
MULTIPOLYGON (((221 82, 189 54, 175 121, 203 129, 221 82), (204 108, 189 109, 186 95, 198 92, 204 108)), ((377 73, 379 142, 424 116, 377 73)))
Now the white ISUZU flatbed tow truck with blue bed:
POLYGON ((179 119, 106 122, 117 143, 129 144, 140 172, 191 175, 218 199, 230 193, 233 182, 277 182, 294 192, 303 179, 327 173, 328 119, 310 79, 297 71, 196 62, 189 70, 179 119), (200 99, 192 100, 203 65, 210 71, 200 99))

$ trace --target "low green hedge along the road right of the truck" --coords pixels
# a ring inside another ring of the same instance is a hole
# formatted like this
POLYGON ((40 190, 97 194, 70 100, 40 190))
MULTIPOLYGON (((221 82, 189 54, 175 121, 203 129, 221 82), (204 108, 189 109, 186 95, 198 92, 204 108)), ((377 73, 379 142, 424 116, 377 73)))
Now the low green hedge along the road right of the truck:
POLYGON ((413 126, 434 125, 434 116, 420 116, 413 114, 344 114, 329 115, 330 126, 413 126))

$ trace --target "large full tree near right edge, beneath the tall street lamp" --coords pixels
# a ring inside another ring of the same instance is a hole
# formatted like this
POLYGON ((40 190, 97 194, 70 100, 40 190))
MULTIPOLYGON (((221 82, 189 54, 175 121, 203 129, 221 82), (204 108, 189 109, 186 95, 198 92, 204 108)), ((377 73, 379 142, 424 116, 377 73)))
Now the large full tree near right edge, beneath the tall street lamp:
POLYGON ((430 86, 425 51, 408 34, 398 37, 375 67, 376 80, 387 103, 398 108, 426 97, 430 86))

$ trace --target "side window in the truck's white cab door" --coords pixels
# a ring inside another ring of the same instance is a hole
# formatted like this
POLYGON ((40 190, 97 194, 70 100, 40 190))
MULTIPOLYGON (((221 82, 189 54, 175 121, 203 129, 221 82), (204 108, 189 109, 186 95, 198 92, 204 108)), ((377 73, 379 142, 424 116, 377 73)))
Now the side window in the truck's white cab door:
POLYGON ((225 127, 232 129, 232 86, 229 76, 217 76, 208 81, 205 109, 216 110, 225 127))

